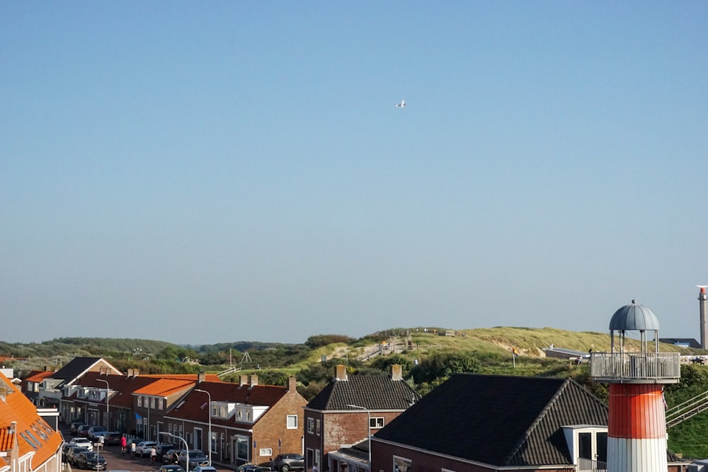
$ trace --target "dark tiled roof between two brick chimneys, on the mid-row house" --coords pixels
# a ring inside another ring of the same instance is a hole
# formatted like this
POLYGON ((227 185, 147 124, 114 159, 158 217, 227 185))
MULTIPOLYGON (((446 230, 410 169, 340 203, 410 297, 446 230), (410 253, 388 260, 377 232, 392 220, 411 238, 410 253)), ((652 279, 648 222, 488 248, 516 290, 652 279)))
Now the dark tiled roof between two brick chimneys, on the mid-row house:
POLYGON ((350 375, 346 380, 331 381, 307 408, 355 410, 347 405, 359 405, 369 410, 406 410, 420 398, 403 380, 384 375, 350 375))

